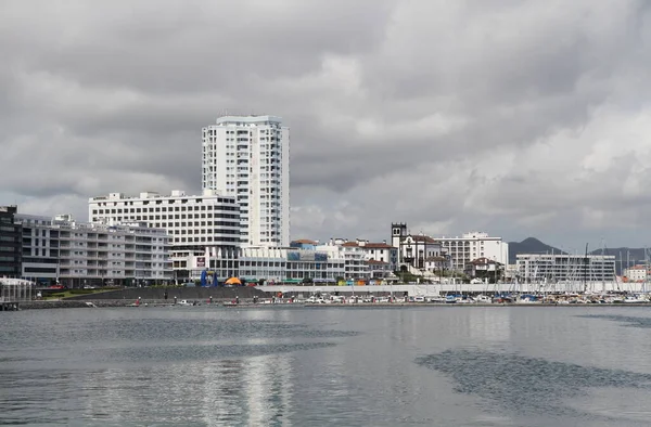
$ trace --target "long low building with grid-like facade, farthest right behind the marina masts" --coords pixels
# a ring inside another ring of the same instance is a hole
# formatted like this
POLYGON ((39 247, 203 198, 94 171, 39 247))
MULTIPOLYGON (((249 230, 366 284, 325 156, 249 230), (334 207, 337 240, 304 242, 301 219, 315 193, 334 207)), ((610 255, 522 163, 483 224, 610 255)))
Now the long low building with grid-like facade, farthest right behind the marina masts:
POLYGON ((614 255, 518 254, 518 277, 525 283, 614 282, 614 255))

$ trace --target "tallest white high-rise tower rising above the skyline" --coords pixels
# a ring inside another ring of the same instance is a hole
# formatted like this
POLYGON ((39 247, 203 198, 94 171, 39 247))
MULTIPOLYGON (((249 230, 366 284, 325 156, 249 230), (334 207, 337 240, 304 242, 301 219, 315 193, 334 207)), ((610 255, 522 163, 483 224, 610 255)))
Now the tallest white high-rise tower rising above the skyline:
POLYGON ((202 129, 202 185, 237 197, 242 242, 290 244, 290 129, 273 116, 225 116, 202 129))

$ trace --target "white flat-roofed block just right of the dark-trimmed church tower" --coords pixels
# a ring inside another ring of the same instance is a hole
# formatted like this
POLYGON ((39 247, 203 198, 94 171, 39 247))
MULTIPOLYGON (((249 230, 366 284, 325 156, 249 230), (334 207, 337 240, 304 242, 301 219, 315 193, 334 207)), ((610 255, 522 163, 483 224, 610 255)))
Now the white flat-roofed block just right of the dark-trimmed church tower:
POLYGON ((449 256, 451 268, 463 271, 465 266, 478 258, 486 258, 502 266, 509 263, 509 244, 501 237, 490 237, 487 233, 464 233, 461 237, 434 237, 449 256))

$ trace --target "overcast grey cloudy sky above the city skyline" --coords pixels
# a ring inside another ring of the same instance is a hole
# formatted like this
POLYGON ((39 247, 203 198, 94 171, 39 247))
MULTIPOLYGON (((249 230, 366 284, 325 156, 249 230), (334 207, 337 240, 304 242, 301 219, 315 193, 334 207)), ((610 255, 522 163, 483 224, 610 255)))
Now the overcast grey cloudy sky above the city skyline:
POLYGON ((201 128, 284 118, 292 237, 651 244, 644 0, 0 2, 0 204, 201 190, 201 128))

